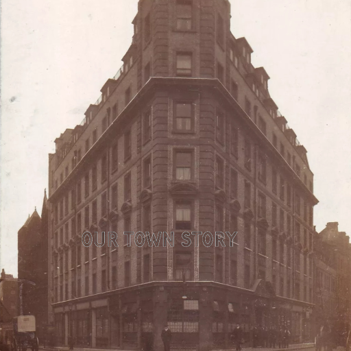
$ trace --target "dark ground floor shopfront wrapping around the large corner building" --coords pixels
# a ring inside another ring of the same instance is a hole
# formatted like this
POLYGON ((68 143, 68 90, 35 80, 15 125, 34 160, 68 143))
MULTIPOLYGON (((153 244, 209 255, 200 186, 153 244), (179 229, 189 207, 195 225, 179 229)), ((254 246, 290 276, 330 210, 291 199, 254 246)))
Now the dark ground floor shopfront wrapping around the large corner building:
POLYGON ((252 328, 291 330, 291 341, 301 342, 311 332, 311 305, 278 298, 270 283, 258 280, 253 290, 215 282, 152 282, 62 302, 53 306, 56 346, 76 348, 162 348, 165 324, 172 331, 172 348, 213 350, 230 348, 236 324, 244 330, 247 346, 252 328))

